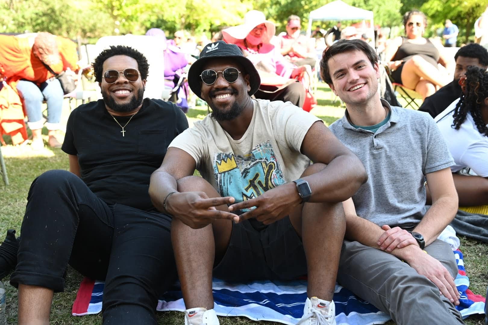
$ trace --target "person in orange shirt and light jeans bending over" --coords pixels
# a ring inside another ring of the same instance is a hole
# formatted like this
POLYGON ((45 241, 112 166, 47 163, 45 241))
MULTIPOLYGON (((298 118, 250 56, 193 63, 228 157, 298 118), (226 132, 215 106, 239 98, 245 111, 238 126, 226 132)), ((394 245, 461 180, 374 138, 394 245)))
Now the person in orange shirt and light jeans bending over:
POLYGON ((56 139, 60 129, 63 91, 55 76, 48 71, 48 65, 56 74, 66 69, 76 71, 78 56, 76 44, 66 38, 47 32, 31 37, 0 35, 0 67, 8 83, 17 89, 23 98, 27 114, 27 125, 32 131, 32 146, 44 146, 41 130, 42 102, 47 103, 49 145, 61 147, 56 139))

